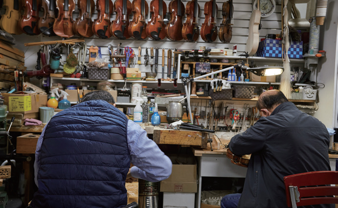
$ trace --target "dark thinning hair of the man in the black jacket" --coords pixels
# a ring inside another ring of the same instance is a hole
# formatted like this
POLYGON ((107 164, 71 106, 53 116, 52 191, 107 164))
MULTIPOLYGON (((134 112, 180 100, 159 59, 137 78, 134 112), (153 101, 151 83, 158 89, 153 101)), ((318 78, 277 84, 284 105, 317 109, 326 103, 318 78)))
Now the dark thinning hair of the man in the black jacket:
POLYGON ((273 90, 273 93, 267 93, 263 96, 259 96, 257 101, 258 110, 261 109, 272 109, 274 106, 288 102, 285 95, 279 90, 273 90))

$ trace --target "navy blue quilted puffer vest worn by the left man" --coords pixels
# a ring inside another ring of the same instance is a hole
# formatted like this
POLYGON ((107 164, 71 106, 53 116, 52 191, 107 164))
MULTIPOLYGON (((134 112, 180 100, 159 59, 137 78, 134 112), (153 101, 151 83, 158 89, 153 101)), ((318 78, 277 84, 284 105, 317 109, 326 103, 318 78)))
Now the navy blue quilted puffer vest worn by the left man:
POLYGON ((102 100, 56 114, 45 129, 33 208, 127 205, 130 167, 126 116, 102 100))

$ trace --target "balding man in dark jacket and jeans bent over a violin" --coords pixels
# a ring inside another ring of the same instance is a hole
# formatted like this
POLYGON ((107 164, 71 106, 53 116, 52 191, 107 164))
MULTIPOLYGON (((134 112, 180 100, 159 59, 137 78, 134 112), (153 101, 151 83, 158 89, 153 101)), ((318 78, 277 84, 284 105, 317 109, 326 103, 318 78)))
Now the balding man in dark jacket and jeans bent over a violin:
POLYGON ((235 155, 251 158, 242 194, 226 195, 222 208, 287 207, 284 176, 331 170, 325 125, 298 110, 279 90, 262 93, 257 108, 262 117, 228 145, 235 155))

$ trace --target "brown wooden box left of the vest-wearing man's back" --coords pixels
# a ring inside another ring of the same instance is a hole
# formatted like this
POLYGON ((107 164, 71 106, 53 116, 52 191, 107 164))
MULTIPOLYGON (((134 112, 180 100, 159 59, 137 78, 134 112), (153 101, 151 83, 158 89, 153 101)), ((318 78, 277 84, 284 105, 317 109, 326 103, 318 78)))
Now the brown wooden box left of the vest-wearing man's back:
POLYGON ((39 137, 40 135, 32 133, 17 137, 17 153, 35 154, 39 137))

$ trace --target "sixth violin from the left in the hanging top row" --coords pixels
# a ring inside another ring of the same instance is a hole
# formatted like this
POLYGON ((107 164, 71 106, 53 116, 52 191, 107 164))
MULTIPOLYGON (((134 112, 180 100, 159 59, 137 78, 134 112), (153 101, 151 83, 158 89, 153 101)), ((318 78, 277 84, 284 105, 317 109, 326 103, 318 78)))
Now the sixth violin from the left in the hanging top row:
POLYGON ((97 37, 103 39, 112 37, 110 26, 113 8, 112 0, 96 1, 97 19, 93 22, 92 30, 97 37))

